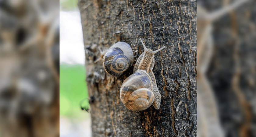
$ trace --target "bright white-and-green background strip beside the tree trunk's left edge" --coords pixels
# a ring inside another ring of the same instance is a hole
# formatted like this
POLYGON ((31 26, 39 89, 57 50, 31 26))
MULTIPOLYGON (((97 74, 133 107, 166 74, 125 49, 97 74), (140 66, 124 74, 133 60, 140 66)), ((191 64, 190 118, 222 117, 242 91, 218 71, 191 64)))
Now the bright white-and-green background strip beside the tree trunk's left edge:
POLYGON ((91 136, 85 51, 77 0, 60 0, 60 136, 91 136), (83 101, 84 100, 84 101, 83 101))

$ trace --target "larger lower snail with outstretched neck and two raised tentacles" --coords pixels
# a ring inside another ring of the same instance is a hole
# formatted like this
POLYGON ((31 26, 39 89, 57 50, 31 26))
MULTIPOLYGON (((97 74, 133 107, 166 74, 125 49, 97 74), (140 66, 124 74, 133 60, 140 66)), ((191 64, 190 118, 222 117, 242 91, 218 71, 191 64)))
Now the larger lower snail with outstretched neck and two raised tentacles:
POLYGON ((132 111, 142 111, 152 104, 155 109, 160 108, 161 94, 156 85, 155 75, 152 69, 155 64, 154 54, 161 51, 147 49, 140 39, 144 53, 142 53, 133 69, 133 74, 123 82, 120 88, 120 99, 126 108, 132 111))

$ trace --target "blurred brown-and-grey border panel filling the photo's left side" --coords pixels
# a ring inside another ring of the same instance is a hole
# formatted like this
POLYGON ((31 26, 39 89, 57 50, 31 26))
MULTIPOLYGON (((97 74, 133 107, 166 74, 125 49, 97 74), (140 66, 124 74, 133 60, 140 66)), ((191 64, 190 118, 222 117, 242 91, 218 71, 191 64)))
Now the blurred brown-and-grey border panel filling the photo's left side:
POLYGON ((58 0, 0 0, 0 136, 59 136, 58 0))

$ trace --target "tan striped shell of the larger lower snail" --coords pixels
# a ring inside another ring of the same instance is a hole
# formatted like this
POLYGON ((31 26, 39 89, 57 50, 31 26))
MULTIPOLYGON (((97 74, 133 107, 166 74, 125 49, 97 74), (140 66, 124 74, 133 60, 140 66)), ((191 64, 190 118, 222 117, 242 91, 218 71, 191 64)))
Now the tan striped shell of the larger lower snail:
POLYGON ((137 70, 122 84, 120 99, 132 111, 147 109, 154 102, 153 84, 150 76, 143 70, 137 70))

